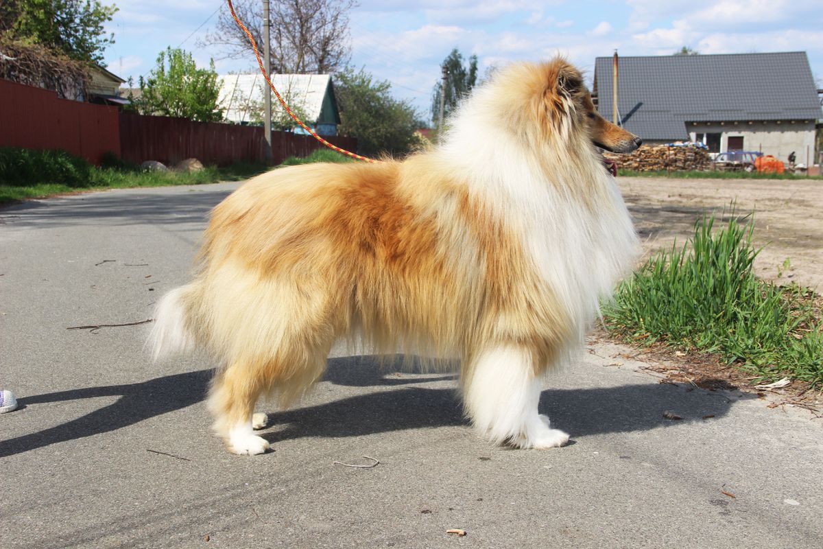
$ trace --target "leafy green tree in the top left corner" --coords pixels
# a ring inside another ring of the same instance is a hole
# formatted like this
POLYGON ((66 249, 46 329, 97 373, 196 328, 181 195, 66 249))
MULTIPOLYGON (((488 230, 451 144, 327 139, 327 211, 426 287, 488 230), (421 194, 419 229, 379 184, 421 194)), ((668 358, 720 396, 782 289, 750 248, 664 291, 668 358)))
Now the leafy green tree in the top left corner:
POLYGON ((6 0, 0 2, 0 32, 77 61, 103 64, 104 50, 114 44, 104 27, 117 11, 99 0, 6 0))

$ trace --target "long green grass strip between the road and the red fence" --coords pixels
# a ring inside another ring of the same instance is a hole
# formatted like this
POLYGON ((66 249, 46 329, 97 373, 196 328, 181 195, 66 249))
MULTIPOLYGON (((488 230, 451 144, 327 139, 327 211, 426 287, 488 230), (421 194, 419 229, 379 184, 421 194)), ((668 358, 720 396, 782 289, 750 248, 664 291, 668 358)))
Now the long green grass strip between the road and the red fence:
POLYGON ((238 181, 267 169, 263 164, 239 162, 226 167, 206 166, 191 173, 144 171, 114 155, 106 155, 103 165, 97 167, 66 151, 0 147, 0 204, 81 190, 238 181))

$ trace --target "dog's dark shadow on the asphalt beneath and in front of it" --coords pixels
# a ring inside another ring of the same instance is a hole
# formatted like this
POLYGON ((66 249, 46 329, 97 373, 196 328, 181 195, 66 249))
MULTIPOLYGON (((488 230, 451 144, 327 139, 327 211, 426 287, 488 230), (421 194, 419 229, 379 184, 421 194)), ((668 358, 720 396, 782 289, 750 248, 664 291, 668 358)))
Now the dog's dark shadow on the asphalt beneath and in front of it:
MULTIPOLYGON (((412 370, 417 367, 414 363, 412 370)), ((418 375, 394 378, 398 363, 381 367, 373 357, 331 359, 324 380, 359 387, 407 385, 343 398, 317 406, 267 414, 261 434, 271 443, 304 437, 348 437, 393 430, 440 426, 468 426, 454 388, 408 386, 454 376, 418 375)), ((704 418, 724 416, 734 402, 725 393, 674 384, 631 384, 610 388, 548 389, 540 398, 540 411, 552 426, 573 438, 611 432, 650 430, 677 426, 704 418)))

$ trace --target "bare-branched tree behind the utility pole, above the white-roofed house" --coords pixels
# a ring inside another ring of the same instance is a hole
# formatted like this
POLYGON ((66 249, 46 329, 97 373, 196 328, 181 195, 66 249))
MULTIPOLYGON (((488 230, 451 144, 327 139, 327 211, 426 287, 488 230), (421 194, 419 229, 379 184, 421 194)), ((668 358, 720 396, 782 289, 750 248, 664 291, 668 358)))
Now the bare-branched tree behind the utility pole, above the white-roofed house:
MULTIPOLYGON (((263 54, 263 2, 237 0, 234 5, 263 54)), ((271 0, 272 72, 330 74, 344 67, 351 54, 348 12, 356 6, 356 0, 271 0)), ((253 55, 249 39, 227 10, 198 44, 221 46, 227 58, 253 55)))

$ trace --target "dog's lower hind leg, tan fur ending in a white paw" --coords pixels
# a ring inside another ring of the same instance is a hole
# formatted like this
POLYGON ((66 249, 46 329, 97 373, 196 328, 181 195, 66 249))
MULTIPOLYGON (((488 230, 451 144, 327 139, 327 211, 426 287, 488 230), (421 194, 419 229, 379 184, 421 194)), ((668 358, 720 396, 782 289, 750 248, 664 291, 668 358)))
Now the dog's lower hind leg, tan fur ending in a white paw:
POLYGON ((266 388, 255 365, 237 361, 212 382, 208 407, 216 417, 214 429, 232 454, 263 454, 267 440, 253 434, 254 404, 266 388))

